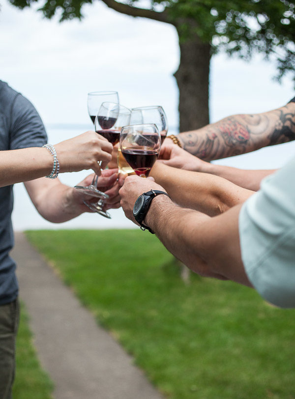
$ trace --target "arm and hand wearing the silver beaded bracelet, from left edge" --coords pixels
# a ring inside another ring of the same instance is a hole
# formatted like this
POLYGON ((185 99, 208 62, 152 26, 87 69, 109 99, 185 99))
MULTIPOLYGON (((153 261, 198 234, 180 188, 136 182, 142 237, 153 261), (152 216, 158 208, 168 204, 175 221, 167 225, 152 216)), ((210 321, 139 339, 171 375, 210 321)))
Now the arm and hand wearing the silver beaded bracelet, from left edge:
MULTIPOLYGON (((59 171, 93 169, 100 174, 97 164, 104 167, 111 160, 113 146, 95 132, 86 132, 55 145, 59 171)), ((0 187, 49 175, 53 157, 46 148, 30 147, 0 151, 0 187)))

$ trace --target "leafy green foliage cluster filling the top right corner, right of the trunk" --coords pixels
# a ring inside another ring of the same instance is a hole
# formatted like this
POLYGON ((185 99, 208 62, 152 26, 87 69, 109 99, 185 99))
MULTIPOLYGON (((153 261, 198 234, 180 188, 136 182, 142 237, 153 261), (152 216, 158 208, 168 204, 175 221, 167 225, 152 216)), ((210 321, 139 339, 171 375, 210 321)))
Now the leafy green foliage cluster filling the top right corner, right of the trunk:
POLYGON ((183 18, 180 35, 197 34, 212 53, 225 51, 249 60, 253 53, 272 56, 280 80, 295 71, 295 3, 285 0, 177 0, 169 11, 183 18), (192 23, 193 21, 193 23, 192 23))

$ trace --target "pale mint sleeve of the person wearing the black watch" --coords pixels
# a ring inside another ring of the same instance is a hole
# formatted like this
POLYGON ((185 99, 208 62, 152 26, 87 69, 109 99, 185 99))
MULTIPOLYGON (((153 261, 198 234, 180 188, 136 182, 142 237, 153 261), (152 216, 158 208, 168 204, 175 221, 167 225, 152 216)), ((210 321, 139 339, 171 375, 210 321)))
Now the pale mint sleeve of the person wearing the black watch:
POLYGON ((247 276, 268 302, 295 307, 295 158, 264 179, 239 214, 247 276))

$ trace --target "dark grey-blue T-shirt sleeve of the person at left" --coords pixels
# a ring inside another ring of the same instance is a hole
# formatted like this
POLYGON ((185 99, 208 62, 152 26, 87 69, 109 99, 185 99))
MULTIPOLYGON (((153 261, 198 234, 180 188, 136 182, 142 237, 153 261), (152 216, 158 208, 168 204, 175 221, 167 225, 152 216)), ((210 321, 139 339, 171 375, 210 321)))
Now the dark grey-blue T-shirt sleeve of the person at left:
POLYGON ((10 149, 41 147, 47 142, 43 122, 29 100, 18 94, 11 107, 10 149))

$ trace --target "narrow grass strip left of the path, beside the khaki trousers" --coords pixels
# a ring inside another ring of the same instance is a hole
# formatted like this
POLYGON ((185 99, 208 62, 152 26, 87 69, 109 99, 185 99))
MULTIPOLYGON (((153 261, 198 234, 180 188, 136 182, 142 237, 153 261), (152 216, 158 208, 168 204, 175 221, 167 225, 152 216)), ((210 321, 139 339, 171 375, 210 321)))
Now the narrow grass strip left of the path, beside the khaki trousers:
POLYGON ((41 369, 28 325, 28 315, 21 306, 20 327, 16 343, 16 377, 13 399, 51 399, 53 384, 41 369))

